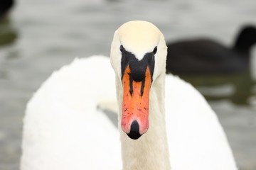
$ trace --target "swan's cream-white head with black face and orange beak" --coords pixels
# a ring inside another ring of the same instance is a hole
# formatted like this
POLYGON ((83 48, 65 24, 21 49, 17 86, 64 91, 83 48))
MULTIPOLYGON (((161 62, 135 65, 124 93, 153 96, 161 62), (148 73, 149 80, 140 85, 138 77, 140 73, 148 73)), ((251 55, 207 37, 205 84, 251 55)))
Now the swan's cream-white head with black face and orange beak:
POLYGON ((122 86, 121 128, 137 140, 149 129, 149 92, 166 72, 164 35, 152 23, 129 21, 114 33, 110 61, 122 86))

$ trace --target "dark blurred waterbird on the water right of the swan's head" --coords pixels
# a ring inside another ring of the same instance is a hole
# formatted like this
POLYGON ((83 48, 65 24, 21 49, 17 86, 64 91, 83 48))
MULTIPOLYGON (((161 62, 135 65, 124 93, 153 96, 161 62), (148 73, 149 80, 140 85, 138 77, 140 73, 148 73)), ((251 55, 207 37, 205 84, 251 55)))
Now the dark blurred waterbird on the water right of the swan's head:
POLYGON ((255 26, 240 30, 233 47, 209 39, 167 43, 166 72, 218 74, 241 72, 249 67, 250 48, 256 42, 255 26))

